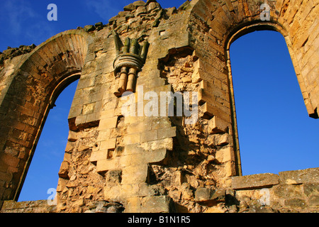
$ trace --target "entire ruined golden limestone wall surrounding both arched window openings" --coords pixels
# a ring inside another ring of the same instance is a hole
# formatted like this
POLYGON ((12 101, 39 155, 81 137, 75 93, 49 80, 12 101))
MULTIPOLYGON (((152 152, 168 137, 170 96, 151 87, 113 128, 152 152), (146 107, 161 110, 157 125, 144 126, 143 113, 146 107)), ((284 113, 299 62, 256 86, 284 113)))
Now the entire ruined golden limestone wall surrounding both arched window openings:
POLYGON ((284 35, 308 114, 318 118, 319 1, 269 1, 270 21, 260 19, 262 3, 193 0, 162 9, 135 1, 106 25, 5 50, 2 212, 318 211, 318 168, 241 177, 229 56, 236 38, 284 35), (16 203, 47 113, 76 79, 57 206, 16 203), (159 116, 162 100, 146 92, 196 92, 198 121, 187 124, 189 116, 168 108, 159 116), (129 98, 136 110, 123 114, 129 98))

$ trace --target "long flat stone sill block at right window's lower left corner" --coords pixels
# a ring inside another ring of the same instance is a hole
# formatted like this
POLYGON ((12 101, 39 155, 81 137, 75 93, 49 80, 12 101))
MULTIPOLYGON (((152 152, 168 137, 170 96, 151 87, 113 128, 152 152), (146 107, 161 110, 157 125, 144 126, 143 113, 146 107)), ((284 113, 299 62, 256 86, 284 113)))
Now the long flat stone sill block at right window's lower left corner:
POLYGON ((232 177, 232 189, 260 189, 279 184, 279 176, 272 173, 232 177))

